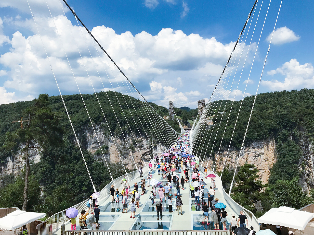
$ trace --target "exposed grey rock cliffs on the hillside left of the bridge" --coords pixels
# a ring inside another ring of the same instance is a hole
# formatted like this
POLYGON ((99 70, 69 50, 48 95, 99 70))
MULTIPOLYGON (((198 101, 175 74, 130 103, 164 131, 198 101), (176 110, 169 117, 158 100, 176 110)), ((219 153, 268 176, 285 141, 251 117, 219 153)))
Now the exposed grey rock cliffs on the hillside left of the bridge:
MULTIPOLYGON (((133 143, 133 136, 128 135, 127 142, 120 138, 115 138, 115 141, 112 140, 111 136, 108 136, 103 132, 103 128, 101 126, 95 126, 95 131, 97 133, 98 140, 100 145, 108 146, 108 149, 104 150, 104 155, 108 165, 116 164, 123 161, 123 164, 128 169, 134 169, 135 163, 137 167, 146 165, 150 157, 152 156, 152 146, 149 141, 143 137, 143 140, 140 136, 136 137, 136 142, 138 145, 133 143), (116 144, 115 144, 116 143, 116 144), (138 151, 139 149, 139 151, 138 151), (119 154, 120 153, 120 154, 119 154), (134 159, 134 160, 133 160, 134 159)), ((82 131, 78 133, 79 139, 81 139, 81 146, 88 150, 91 154, 95 154, 95 152, 100 149, 98 140, 96 138, 94 130, 87 126, 82 131)), ((24 146, 19 146, 19 149, 22 149, 24 146)), ((154 151, 157 148, 161 148, 161 146, 154 147, 154 151)), ((40 161, 39 151, 35 151, 34 149, 30 150, 30 161, 34 161, 35 163, 40 161)), ((95 159, 99 159, 100 161, 104 161, 104 156, 100 152, 100 154, 95 155, 95 159)), ((20 171, 24 168, 25 160, 24 153, 18 151, 12 158, 7 159, 7 163, 0 167, 0 174, 14 174, 19 175, 20 171)))

